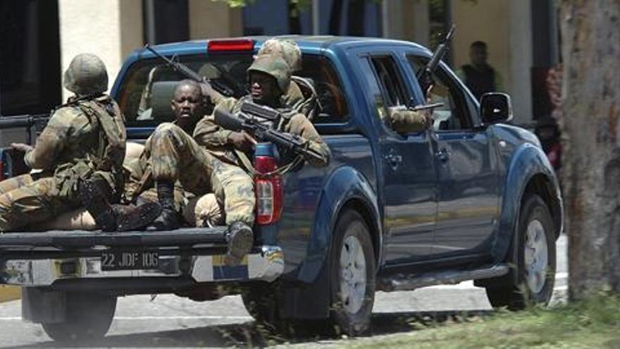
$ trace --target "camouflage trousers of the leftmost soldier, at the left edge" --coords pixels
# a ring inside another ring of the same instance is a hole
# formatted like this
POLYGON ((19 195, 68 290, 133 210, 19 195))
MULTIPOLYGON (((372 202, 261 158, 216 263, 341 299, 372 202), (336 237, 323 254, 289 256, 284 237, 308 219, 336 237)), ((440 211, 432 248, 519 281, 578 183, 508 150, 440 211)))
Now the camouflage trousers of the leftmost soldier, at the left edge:
POLYGON ((47 221, 78 206, 77 200, 58 195, 54 176, 8 178, 0 182, 0 233, 47 221))

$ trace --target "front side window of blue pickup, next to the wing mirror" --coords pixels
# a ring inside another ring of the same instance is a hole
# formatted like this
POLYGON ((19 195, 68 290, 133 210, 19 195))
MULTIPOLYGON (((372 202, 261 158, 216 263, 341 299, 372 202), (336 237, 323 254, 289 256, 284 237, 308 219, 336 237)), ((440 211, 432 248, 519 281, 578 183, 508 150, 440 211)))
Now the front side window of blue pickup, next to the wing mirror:
MULTIPOLYGON (((428 59, 419 56, 407 56, 411 69, 418 72, 426 65, 428 59)), ((462 91, 442 71, 433 74, 435 85, 428 97, 430 103, 443 103, 443 106, 433 109, 433 130, 463 130, 471 128, 471 119, 467 111, 462 91)), ((426 91, 423 91, 426 93, 426 91)))

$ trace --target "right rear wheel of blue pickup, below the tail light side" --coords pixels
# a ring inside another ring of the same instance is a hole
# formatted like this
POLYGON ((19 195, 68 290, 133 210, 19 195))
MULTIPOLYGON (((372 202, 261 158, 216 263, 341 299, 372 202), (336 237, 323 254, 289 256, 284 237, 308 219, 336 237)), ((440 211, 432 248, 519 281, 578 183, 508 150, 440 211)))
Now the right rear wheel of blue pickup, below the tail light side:
POLYGON ((330 327, 359 336, 370 326, 375 298, 376 260, 366 221, 344 212, 337 221, 330 251, 330 327))

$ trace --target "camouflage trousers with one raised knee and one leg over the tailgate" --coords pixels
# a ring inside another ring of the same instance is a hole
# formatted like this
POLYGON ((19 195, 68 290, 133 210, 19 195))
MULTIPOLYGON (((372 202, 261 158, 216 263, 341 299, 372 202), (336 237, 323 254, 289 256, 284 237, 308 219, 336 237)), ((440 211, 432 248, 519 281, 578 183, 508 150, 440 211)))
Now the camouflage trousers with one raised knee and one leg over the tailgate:
POLYGON ((225 209, 227 225, 235 221, 254 224, 252 178, 237 166, 213 157, 177 125, 159 125, 146 151, 155 181, 178 180, 183 190, 197 196, 213 192, 225 209))

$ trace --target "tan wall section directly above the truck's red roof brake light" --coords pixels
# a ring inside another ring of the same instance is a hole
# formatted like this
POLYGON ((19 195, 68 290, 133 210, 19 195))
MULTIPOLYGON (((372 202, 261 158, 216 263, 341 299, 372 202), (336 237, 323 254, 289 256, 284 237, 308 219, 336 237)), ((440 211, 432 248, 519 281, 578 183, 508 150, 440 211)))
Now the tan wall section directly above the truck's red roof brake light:
POLYGON ((221 1, 190 0, 190 38, 234 37, 243 33, 242 11, 221 1))

